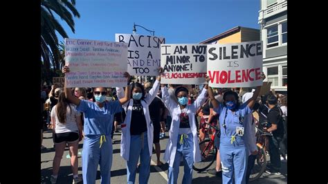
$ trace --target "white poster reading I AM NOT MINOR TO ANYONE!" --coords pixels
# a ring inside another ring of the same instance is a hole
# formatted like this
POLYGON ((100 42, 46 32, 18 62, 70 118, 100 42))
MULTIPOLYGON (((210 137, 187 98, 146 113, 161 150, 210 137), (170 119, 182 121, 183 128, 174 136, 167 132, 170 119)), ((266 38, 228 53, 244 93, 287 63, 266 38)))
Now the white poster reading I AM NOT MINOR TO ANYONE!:
POLYGON ((161 44, 162 84, 206 84, 206 44, 161 44))

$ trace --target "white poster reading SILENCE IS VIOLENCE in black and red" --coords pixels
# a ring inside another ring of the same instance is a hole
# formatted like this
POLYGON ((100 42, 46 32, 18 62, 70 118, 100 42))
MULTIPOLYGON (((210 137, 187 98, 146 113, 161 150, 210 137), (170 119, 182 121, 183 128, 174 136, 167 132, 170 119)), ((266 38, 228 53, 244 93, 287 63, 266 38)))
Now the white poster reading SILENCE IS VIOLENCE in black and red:
POLYGON ((262 42, 208 45, 210 86, 262 86, 262 42))

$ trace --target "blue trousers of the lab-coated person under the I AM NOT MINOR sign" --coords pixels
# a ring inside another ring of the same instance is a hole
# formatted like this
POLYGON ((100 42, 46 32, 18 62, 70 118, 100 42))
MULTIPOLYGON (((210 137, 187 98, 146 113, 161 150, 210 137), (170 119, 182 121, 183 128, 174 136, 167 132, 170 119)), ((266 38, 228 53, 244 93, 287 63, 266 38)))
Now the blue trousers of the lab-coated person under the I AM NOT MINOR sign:
POLYGON ((183 137, 183 143, 180 144, 181 134, 178 136, 176 144, 176 154, 173 167, 169 167, 167 183, 176 184, 179 176, 179 166, 181 158, 183 158, 183 184, 192 183, 192 165, 194 165, 194 139, 192 133, 188 134, 188 138, 183 137))

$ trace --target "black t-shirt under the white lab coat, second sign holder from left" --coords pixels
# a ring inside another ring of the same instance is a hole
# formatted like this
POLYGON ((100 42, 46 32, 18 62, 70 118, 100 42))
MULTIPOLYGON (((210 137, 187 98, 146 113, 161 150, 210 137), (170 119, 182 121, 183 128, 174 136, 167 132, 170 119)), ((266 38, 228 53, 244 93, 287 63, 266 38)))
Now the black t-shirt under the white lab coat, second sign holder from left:
POLYGON ((141 105, 140 100, 134 100, 131 115, 130 134, 140 135, 144 131, 147 131, 147 122, 145 114, 143 113, 143 106, 141 105))

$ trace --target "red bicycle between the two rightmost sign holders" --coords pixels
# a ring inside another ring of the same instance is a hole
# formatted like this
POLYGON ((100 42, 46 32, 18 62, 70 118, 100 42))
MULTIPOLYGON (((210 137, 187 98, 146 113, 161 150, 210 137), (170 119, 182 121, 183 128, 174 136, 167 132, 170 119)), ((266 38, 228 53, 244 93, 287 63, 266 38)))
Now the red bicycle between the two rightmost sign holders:
POLYGON ((203 141, 199 142, 199 148, 203 147, 204 149, 201 150, 201 161, 192 165, 192 169, 197 172, 205 171, 212 165, 212 163, 214 163, 215 160, 217 160, 217 149, 214 147, 214 139, 217 134, 220 134, 220 129, 212 126, 208 122, 204 122, 203 129, 207 129, 206 131, 208 131, 209 128, 204 125, 208 125, 210 128, 214 129, 214 131, 212 132, 210 138, 205 138, 203 141))

